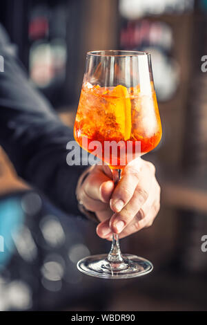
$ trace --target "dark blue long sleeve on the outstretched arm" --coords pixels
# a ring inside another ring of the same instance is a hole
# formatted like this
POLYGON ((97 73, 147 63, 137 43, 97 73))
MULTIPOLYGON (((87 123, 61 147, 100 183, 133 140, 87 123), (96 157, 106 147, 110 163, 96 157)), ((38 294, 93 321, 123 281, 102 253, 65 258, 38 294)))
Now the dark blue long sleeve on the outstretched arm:
POLYGON ((21 178, 65 212, 80 214, 75 188, 86 167, 66 164, 72 129, 32 87, 15 52, 0 26, 0 145, 21 178))

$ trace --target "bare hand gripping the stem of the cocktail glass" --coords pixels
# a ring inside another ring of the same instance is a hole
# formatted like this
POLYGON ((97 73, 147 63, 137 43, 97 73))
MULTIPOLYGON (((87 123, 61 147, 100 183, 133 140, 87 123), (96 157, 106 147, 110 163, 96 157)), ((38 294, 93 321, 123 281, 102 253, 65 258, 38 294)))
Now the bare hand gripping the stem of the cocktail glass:
POLYGON ((108 166, 90 167, 86 180, 83 178, 77 186, 77 197, 97 215, 97 234, 101 238, 111 240, 112 232, 123 238, 152 225, 160 199, 152 163, 141 158, 132 160, 116 187, 108 166))

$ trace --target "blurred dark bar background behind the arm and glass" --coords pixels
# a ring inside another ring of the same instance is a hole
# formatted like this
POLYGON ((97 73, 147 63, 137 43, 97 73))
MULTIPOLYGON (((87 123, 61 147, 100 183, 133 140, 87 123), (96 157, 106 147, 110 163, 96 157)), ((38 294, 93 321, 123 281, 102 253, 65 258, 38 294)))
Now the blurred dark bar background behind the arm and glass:
POLYGON ((207 310, 207 1, 8 0, 0 21, 34 86, 71 127, 88 50, 150 51, 164 131, 144 157, 157 168, 159 216, 121 240, 155 270, 120 281, 77 270, 110 244, 18 179, 0 148, 0 310, 207 310))

